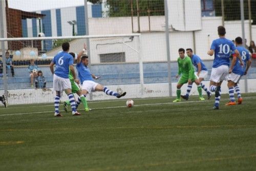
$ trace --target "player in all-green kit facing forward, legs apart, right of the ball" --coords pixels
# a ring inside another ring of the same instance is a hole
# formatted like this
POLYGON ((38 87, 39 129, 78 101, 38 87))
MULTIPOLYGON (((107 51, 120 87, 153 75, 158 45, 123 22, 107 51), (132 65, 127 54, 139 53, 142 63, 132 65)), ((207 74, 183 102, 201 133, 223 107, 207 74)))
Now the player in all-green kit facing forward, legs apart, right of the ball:
POLYGON ((180 48, 179 49, 179 55, 180 57, 178 58, 178 74, 176 75, 176 78, 179 77, 180 74, 182 74, 182 76, 179 79, 179 82, 177 84, 177 99, 175 99, 173 102, 180 102, 180 94, 181 94, 181 87, 183 86, 184 83, 188 83, 188 84, 192 84, 193 82, 195 82, 197 84, 197 90, 199 93, 199 98, 200 100, 204 100, 203 96, 202 96, 202 88, 200 85, 200 81, 197 77, 197 75, 195 75, 195 71, 194 71, 194 67, 192 64, 191 59, 188 56, 185 56, 185 49, 180 48))

